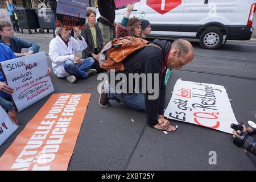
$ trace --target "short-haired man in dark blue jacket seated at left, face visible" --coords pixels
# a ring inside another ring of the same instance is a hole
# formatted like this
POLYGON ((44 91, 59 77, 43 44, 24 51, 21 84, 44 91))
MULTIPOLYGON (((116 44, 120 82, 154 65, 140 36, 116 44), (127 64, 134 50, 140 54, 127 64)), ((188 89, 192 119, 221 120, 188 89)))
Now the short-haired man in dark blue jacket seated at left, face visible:
POLYGON ((38 53, 40 48, 36 43, 30 43, 26 40, 16 38, 11 24, 4 21, 0 21, 0 43, 4 43, 6 46, 9 46, 16 57, 38 53), (27 48, 28 51, 21 53, 22 48, 27 48))

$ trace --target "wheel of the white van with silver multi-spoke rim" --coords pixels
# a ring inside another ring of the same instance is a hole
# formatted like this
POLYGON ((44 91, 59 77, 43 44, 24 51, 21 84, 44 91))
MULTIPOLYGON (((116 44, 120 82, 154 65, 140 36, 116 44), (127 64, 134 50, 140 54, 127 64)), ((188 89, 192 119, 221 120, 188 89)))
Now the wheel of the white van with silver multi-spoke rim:
POLYGON ((200 45, 205 49, 217 49, 223 42, 223 34, 216 28, 205 30, 200 36, 200 45))

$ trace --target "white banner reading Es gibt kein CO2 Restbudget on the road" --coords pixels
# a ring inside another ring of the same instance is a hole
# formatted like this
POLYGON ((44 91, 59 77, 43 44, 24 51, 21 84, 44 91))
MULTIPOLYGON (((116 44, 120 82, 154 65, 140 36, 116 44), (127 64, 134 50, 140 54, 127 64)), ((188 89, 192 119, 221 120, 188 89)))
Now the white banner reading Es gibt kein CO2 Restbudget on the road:
POLYGON ((177 80, 164 117, 232 134, 234 116, 224 86, 177 80))

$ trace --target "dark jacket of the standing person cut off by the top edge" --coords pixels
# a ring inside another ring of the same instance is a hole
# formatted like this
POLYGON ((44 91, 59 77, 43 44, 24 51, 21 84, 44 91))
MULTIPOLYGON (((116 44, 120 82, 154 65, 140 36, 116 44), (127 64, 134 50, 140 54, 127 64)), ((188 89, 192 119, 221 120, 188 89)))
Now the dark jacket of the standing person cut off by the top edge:
POLYGON ((98 18, 98 22, 105 24, 107 26, 113 27, 113 23, 115 21, 115 2, 114 0, 98 0, 98 11, 101 16, 104 18, 98 18))

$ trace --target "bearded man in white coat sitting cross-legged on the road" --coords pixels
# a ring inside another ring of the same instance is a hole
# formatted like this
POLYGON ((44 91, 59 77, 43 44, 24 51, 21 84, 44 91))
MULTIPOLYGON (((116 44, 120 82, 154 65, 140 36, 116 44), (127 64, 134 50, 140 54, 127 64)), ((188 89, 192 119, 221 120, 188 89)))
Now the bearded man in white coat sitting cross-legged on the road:
POLYGON ((97 73, 96 69, 90 69, 94 63, 92 57, 81 60, 76 56, 76 51, 83 51, 87 44, 79 34, 79 28, 74 27, 73 30, 77 40, 71 37, 69 28, 57 27, 56 38, 49 43, 53 72, 57 77, 66 78, 69 82, 75 82, 76 78, 85 79, 97 73))

